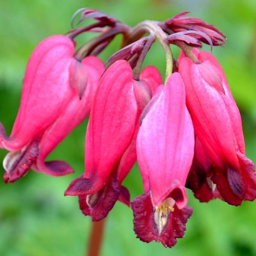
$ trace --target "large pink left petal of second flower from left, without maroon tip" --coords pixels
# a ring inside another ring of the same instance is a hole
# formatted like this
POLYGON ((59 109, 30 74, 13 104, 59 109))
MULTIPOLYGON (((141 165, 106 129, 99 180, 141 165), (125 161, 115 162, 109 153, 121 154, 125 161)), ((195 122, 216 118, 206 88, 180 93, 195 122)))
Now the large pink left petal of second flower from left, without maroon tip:
POLYGON ((94 179, 94 193, 104 186, 134 133, 137 105, 129 63, 116 61, 100 79, 86 132, 85 178, 94 179))

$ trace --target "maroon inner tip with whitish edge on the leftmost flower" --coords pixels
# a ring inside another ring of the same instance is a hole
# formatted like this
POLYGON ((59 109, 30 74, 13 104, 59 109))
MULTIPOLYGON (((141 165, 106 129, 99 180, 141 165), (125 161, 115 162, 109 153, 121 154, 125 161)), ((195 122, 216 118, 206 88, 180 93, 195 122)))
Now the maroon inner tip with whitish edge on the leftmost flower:
POLYGON ((38 156, 38 141, 32 141, 28 147, 18 152, 10 152, 4 157, 4 182, 15 182, 24 176, 38 156))

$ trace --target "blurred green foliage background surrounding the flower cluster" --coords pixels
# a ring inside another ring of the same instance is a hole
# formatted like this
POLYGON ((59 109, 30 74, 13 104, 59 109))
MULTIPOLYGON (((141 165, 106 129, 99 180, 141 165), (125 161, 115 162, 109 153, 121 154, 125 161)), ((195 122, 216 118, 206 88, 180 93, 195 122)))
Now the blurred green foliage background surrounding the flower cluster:
MULTIPOLYGON (((254 0, 0 0, 0 121, 8 134, 19 108, 22 78, 31 51, 45 37, 67 32, 72 14, 81 7, 99 8, 130 26, 144 19, 164 20, 188 10, 191 16, 221 29, 228 41, 214 48, 213 54, 223 65, 241 110, 247 156, 256 161, 254 0)), ((119 44, 120 38, 116 38, 102 59, 106 61, 119 44)), ((204 48, 210 51, 208 46, 204 48)), ((160 47, 152 48, 146 63, 164 73, 160 47)), ((84 255, 91 221, 79 211, 77 198, 64 197, 63 191, 83 173, 85 127, 86 122, 77 127, 49 157, 65 159, 76 173, 56 178, 30 171, 15 184, 0 181, 0 255, 84 255)), ((5 154, 1 150, 0 159, 5 154)), ((142 192, 137 166, 124 183, 132 198, 142 192)), ((190 191, 188 194, 194 213, 185 237, 174 248, 136 239, 132 211, 118 202, 108 216, 102 255, 256 255, 256 202, 244 202, 241 207, 220 200, 200 204, 190 191)))

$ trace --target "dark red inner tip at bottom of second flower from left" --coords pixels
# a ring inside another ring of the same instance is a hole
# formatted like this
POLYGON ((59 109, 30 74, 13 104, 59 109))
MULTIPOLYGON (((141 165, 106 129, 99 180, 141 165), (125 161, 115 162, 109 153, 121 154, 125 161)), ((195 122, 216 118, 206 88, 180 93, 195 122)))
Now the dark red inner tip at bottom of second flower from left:
POLYGON ((79 196, 79 206, 86 216, 91 216, 93 221, 99 221, 108 215, 120 195, 120 185, 116 175, 112 175, 106 185, 92 195, 79 196))

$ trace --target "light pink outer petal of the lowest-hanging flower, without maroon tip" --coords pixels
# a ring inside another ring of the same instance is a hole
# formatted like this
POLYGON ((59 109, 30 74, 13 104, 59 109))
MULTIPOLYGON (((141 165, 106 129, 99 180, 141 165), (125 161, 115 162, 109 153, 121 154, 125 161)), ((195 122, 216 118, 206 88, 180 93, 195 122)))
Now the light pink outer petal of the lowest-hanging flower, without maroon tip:
MULTIPOLYGON (((137 140, 141 173, 148 173, 154 205, 176 188, 186 205, 184 185, 193 159, 194 133, 182 79, 174 73, 143 119, 137 140)), ((147 192, 147 191, 146 191, 147 192)))

